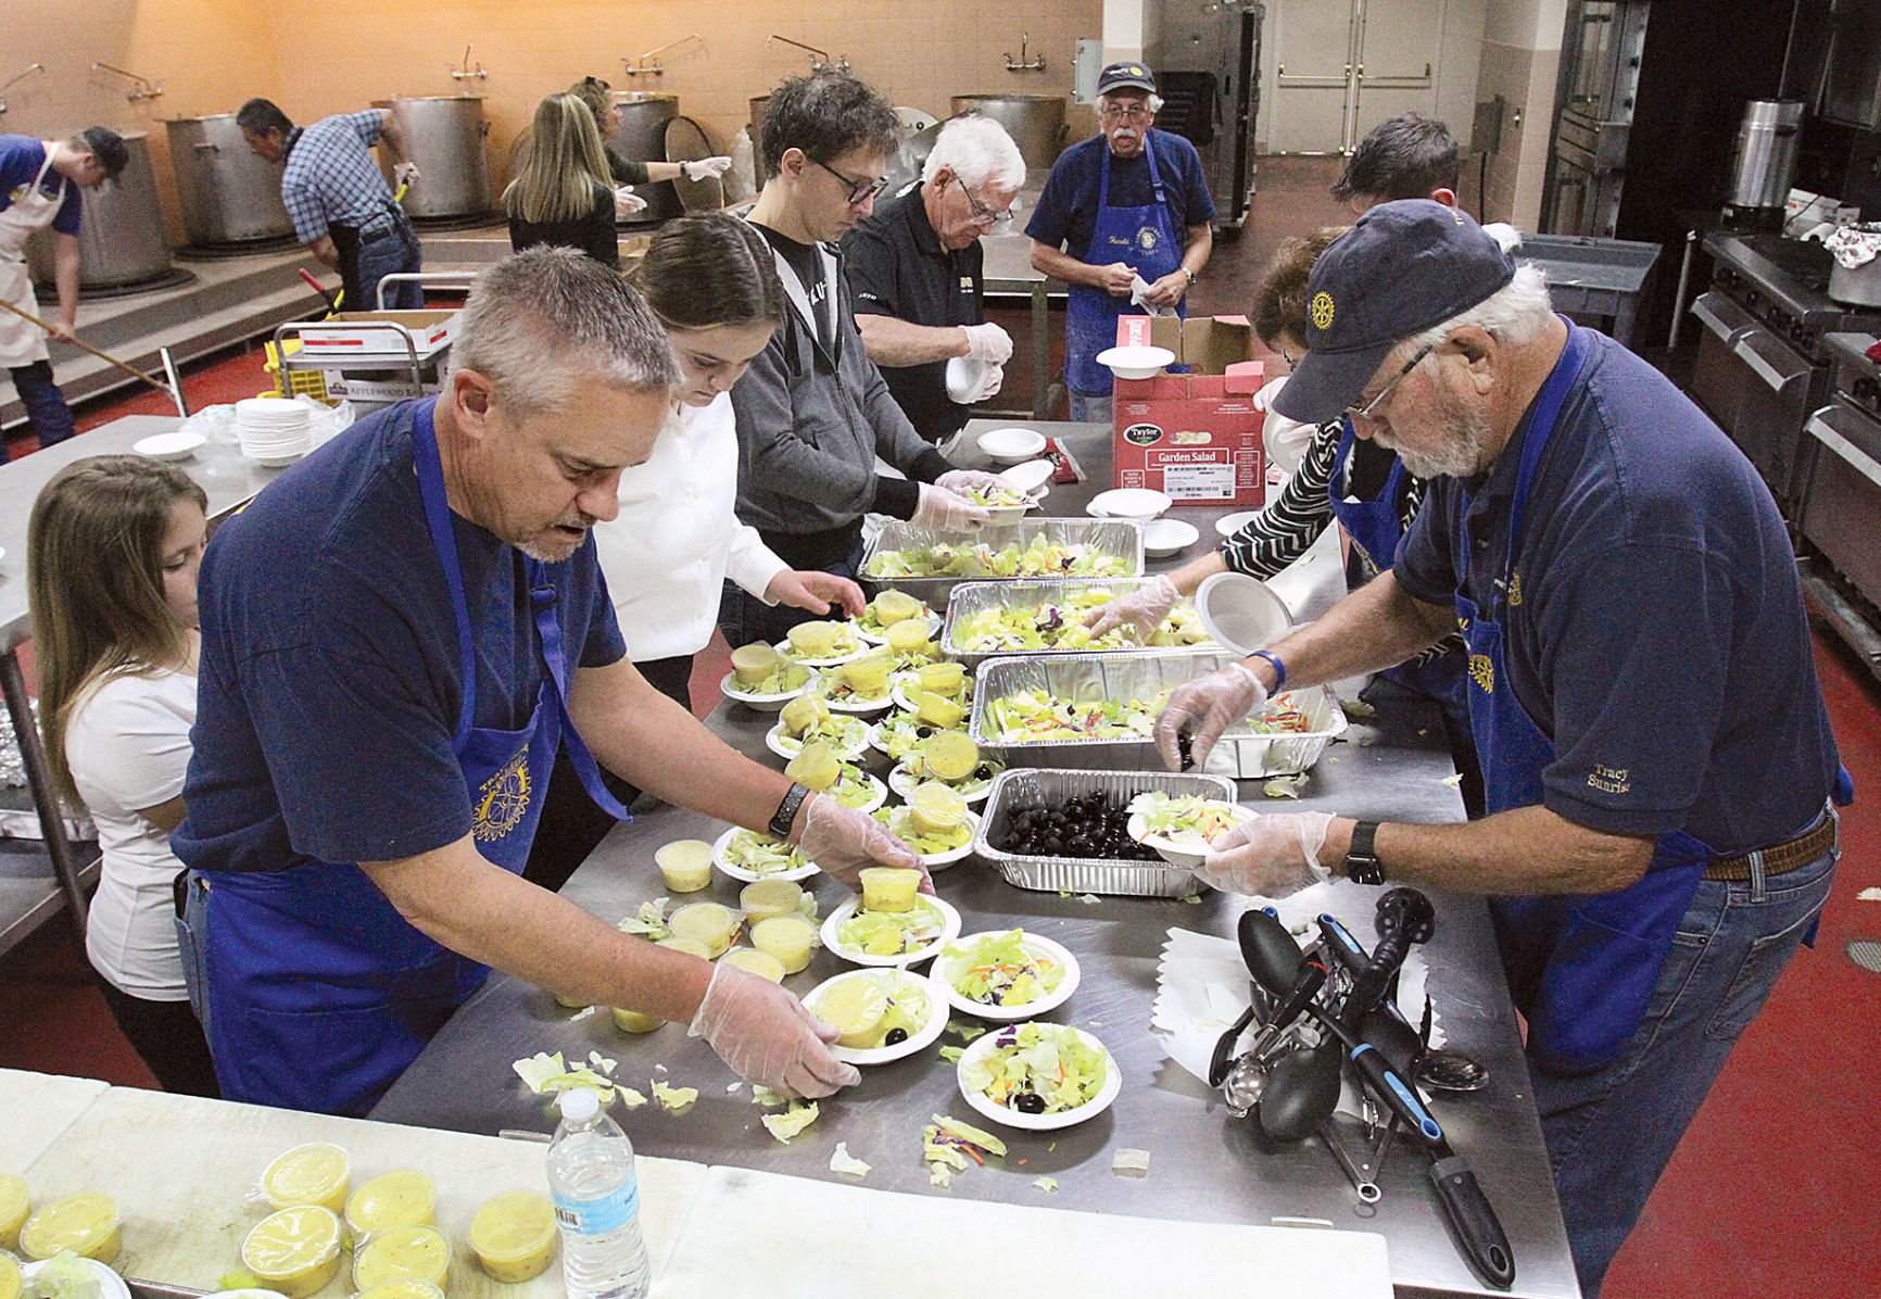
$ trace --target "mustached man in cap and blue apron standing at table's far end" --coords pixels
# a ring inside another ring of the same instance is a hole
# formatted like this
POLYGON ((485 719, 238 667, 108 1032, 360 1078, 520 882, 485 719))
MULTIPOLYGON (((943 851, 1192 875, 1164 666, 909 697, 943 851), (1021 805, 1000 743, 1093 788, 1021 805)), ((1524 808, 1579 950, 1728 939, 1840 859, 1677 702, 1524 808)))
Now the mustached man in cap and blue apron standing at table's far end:
POLYGON ((1102 130, 1051 164, 1025 227, 1033 267, 1070 286, 1065 387, 1072 419, 1110 421, 1110 370, 1097 353, 1117 346, 1117 316, 1144 306, 1185 310, 1215 246, 1202 156, 1181 135, 1153 130, 1161 107, 1147 68, 1104 68, 1097 77, 1102 130))

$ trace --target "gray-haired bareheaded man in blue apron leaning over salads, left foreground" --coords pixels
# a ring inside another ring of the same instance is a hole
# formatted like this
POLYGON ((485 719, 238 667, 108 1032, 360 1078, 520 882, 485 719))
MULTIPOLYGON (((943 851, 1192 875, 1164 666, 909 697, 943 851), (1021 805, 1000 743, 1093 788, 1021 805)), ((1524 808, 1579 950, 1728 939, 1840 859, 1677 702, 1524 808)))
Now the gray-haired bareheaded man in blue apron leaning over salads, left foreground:
POLYGON ((741 1077, 856 1081, 781 987, 521 880, 555 754, 794 840, 914 857, 735 754, 624 658, 589 526, 670 414, 647 305, 536 248, 487 271, 446 391, 376 412, 228 521, 201 570, 184 951, 231 1100, 363 1115, 502 968, 692 1025, 741 1077))

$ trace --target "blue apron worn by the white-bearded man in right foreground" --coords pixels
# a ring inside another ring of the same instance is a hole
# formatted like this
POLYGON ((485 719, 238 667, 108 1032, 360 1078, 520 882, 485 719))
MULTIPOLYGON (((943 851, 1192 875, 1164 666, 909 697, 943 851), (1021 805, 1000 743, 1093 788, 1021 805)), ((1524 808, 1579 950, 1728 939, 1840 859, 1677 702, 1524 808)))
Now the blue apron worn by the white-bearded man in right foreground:
MULTIPOLYGON (((1522 602, 1522 521, 1535 466, 1586 365, 1586 335, 1569 325, 1567 348, 1535 400, 1514 500, 1509 508, 1509 555, 1501 581, 1486 587, 1478 607, 1456 594, 1458 626, 1469 650, 1469 720, 1482 758, 1488 810, 1542 803, 1542 773, 1554 741, 1516 699, 1503 656, 1503 618, 1522 602)), ((1469 502, 1458 511, 1456 556, 1471 564, 1469 502)), ((1612 1060, 1646 1013, 1646 1002, 1678 921, 1704 878, 1710 850, 1683 831, 1661 835, 1652 865, 1627 889, 1597 895, 1492 899, 1495 940, 1516 1008, 1529 1025, 1527 1049, 1556 1072, 1586 1072, 1612 1060)))

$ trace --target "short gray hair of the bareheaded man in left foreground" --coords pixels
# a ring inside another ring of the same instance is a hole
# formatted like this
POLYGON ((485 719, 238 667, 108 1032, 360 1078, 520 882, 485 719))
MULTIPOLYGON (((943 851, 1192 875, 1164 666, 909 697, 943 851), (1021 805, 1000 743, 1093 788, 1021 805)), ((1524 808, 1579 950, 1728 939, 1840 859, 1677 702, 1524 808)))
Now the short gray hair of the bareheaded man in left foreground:
POLYGON ((489 378, 515 419, 579 399, 583 383, 653 393, 679 382, 666 329, 640 293, 593 258, 551 246, 476 278, 450 368, 489 378))

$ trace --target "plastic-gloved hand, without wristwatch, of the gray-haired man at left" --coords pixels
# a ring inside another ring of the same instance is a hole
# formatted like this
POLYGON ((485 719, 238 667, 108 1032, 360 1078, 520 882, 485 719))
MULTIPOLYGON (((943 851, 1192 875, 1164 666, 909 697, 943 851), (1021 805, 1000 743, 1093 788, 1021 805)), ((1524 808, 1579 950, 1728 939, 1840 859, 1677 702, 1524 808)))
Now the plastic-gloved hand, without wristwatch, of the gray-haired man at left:
POLYGON ((687 1032, 705 1038, 705 1045, 747 1083, 792 1096, 830 1096, 861 1081, 856 1066, 830 1055, 831 1025, 769 979, 732 964, 713 966, 711 985, 687 1032))

